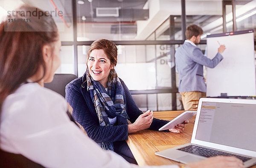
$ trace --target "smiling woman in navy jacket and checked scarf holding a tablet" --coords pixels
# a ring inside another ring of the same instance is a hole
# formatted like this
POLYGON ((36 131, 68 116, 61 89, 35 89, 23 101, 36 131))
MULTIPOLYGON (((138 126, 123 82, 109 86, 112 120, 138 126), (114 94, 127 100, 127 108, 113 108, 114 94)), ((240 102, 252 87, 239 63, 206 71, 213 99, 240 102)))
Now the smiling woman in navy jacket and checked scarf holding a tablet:
MULTIPOLYGON (((76 122, 91 139, 104 150, 115 151, 128 162, 136 163, 125 142, 128 133, 147 128, 158 130, 168 121, 155 119, 153 111, 143 113, 137 107, 114 70, 116 63, 116 44, 106 39, 94 41, 87 54, 87 70, 67 84, 66 100, 73 107, 76 122)), ((184 127, 185 124, 179 124, 169 131, 181 133, 184 127)))

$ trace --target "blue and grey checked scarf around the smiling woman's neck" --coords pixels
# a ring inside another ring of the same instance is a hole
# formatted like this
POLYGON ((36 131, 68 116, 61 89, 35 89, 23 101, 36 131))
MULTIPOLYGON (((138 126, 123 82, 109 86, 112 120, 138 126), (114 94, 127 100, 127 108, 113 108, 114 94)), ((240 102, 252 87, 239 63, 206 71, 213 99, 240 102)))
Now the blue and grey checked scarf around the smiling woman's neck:
MULTIPOLYGON (((116 71, 112 69, 108 76, 108 92, 98 81, 94 81, 86 72, 87 90, 94 103, 99 125, 101 127, 110 127, 108 117, 113 119, 117 117, 117 124, 128 124, 128 115, 125 108, 125 90, 118 78, 116 71)), ((99 145, 104 150, 113 151, 113 142, 101 142, 99 145)))

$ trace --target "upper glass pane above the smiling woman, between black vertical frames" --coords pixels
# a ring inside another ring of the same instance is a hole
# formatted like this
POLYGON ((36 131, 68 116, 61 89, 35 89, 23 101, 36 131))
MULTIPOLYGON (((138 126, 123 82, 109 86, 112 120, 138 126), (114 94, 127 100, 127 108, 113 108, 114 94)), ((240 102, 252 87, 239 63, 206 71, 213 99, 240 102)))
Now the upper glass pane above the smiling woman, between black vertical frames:
POLYGON ((78 41, 181 39, 180 0, 85 0, 77 12, 78 41))

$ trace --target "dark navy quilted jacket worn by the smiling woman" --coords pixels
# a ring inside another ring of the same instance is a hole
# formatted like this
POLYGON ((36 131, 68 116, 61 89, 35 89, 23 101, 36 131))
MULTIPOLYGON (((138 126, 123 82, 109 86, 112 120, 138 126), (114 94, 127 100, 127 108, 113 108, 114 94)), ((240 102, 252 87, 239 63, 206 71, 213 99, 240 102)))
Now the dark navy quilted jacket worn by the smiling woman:
MULTIPOLYGON (((100 142, 115 142, 128 139, 128 126, 114 125, 112 127, 100 127, 99 119, 90 98, 90 93, 87 91, 87 82, 83 84, 85 77, 77 78, 71 81, 66 86, 66 100, 73 107, 73 114, 75 121, 84 127, 87 135, 96 143, 100 142), (84 88, 81 87, 83 84, 84 88)), ((142 111, 135 104, 130 91, 125 83, 120 79, 122 86, 125 90, 126 108, 130 122, 134 123, 135 120, 142 114, 142 111)), ((153 119, 149 129, 158 130, 165 125, 166 120, 153 119)))

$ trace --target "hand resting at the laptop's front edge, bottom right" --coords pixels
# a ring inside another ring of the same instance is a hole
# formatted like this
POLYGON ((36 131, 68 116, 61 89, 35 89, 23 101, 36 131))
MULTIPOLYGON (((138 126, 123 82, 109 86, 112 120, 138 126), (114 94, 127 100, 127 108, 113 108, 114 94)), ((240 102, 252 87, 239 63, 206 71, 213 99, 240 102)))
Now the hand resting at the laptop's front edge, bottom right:
POLYGON ((234 156, 215 156, 200 162, 187 164, 189 168, 244 168, 240 159, 234 156))

